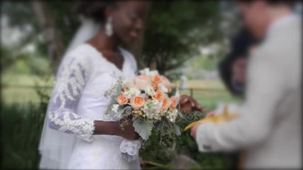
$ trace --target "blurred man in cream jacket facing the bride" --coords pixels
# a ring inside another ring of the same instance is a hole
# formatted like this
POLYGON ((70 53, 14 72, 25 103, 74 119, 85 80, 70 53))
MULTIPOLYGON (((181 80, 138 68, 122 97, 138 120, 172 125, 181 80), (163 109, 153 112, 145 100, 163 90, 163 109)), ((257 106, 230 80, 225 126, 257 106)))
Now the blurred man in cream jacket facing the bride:
POLYGON ((302 28, 290 1, 238 0, 264 41, 248 61, 240 117, 191 129, 200 152, 245 150, 244 168, 302 168, 302 28))

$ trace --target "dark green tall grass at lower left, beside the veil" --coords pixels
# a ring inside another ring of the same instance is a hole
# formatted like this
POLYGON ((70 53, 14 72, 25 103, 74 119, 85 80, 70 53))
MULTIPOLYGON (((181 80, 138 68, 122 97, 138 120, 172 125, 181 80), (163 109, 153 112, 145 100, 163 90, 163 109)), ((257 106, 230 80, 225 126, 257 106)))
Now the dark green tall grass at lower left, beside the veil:
POLYGON ((5 104, 1 108, 2 169, 36 169, 45 111, 38 104, 5 104))

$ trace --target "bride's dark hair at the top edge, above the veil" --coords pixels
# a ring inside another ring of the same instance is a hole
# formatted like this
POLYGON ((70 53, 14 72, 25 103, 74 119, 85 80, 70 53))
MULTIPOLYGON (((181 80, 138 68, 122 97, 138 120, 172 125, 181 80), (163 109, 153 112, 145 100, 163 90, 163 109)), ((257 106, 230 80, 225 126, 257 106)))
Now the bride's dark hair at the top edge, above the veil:
POLYGON ((76 11, 99 23, 106 21, 105 9, 116 5, 118 0, 78 0, 76 2, 76 11))

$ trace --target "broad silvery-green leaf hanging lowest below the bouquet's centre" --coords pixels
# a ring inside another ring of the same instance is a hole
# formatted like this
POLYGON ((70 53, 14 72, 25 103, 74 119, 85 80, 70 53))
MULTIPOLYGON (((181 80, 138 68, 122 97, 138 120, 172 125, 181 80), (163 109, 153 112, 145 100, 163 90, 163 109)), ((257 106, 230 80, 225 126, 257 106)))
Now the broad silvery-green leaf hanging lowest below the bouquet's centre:
POLYGON ((135 131, 142 137, 143 140, 148 140, 152 135, 152 121, 136 119, 133 123, 135 131))

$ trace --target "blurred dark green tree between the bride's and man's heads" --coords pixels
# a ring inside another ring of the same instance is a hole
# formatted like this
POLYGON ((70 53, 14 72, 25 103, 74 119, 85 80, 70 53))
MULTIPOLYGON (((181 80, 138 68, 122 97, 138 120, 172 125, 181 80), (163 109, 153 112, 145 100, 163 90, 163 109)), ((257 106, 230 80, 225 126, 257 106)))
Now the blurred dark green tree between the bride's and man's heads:
POLYGON ((199 46, 220 42, 219 22, 215 22, 219 20, 218 3, 216 0, 153 3, 140 66, 164 73, 199 54, 199 46))

